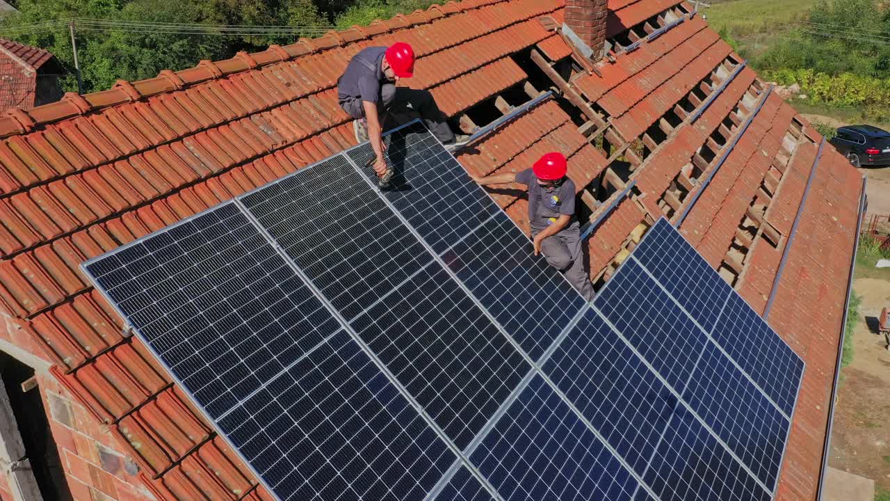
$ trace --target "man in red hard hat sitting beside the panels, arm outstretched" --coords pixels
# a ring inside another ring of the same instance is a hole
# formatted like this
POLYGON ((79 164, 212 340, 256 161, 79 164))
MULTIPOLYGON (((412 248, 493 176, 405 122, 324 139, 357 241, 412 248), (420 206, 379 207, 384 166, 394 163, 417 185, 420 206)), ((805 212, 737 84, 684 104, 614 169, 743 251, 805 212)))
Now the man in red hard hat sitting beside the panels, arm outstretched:
POLYGON ((580 229, 575 216, 575 183, 566 176, 568 165, 560 152, 549 152, 522 172, 473 177, 480 185, 519 183, 529 187, 529 221, 534 252, 543 253, 550 266, 587 300, 594 286, 584 269, 580 229))

